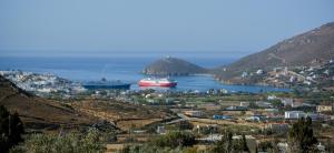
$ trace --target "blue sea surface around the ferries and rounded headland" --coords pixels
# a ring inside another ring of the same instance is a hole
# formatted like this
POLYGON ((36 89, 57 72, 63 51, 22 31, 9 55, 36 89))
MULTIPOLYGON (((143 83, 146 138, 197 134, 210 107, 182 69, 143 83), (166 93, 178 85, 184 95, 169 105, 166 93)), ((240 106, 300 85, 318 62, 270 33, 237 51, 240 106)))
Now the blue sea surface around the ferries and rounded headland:
MULTIPOLYGON (((160 57, 163 58, 163 57, 160 57)), ((58 76, 72 81, 96 81, 101 78, 107 80, 120 80, 132 83, 131 90, 141 90, 137 82, 146 78, 140 71, 145 65, 157 60, 157 57, 79 57, 79 58, 21 58, 21 57, 1 57, 0 70, 21 70, 37 73, 53 73, 58 76)), ((215 68, 227 64, 235 59, 224 59, 222 57, 183 58, 187 61, 202 65, 204 68, 215 68)), ((269 92, 269 91, 289 91, 288 89, 278 89, 271 86, 256 85, 228 85, 215 81, 209 75, 175 76, 178 82, 177 91, 207 91, 209 89, 226 89, 230 92, 269 92)))

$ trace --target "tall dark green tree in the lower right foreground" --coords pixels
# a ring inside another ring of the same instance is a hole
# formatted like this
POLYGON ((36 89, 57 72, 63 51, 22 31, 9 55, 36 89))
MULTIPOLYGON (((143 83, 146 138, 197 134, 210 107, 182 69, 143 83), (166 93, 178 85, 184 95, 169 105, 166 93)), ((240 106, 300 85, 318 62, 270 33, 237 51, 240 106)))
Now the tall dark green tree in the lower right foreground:
POLYGON ((306 120, 302 118, 294 123, 288 131, 288 137, 292 152, 306 153, 313 151, 317 140, 313 134, 312 119, 310 116, 306 120))

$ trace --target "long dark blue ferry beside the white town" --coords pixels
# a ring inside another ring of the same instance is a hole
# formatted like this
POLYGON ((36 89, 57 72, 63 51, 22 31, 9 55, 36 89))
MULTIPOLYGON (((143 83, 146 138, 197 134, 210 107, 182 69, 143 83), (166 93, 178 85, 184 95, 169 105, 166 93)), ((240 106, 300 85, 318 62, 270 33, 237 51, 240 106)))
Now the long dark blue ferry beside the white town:
POLYGON ((120 80, 112 80, 108 81, 107 79, 102 78, 100 81, 89 81, 82 84, 84 88, 89 90, 97 90, 97 89, 120 89, 120 90, 129 90, 130 83, 121 82, 120 80))

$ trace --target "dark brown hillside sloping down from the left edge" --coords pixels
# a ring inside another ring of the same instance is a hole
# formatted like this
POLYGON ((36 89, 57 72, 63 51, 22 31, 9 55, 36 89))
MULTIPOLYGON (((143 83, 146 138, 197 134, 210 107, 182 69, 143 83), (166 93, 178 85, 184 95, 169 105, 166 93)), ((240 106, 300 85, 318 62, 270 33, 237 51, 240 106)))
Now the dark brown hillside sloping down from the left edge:
POLYGON ((10 112, 18 112, 24 126, 35 130, 56 130, 61 125, 66 128, 90 125, 97 119, 79 114, 59 102, 29 94, 2 75, 0 75, 0 104, 10 112))

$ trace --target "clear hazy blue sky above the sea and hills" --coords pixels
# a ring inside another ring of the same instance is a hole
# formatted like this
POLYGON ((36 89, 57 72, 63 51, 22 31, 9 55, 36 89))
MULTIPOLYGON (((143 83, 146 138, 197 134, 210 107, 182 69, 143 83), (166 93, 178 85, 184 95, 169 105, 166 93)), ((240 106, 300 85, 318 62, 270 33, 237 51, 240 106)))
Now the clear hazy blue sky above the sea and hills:
POLYGON ((334 0, 1 0, 0 55, 245 55, 334 21, 334 0))

